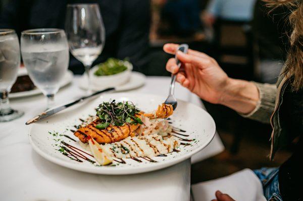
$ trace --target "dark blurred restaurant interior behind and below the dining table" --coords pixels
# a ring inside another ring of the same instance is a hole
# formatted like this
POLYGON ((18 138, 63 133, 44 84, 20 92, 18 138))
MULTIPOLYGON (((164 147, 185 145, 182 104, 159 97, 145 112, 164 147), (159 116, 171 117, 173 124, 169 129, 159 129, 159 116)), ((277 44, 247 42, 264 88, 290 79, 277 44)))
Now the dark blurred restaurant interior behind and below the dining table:
MULTIPOLYGON (((67 4, 98 3, 106 29, 106 45, 94 64, 110 57, 128 58, 134 71, 146 76, 170 76, 165 70, 172 55, 165 43, 187 43, 214 57, 232 78, 275 83, 287 50, 289 11, 271 13, 259 0, 0 0, 0 28, 64 29, 67 4)), ((70 55, 69 69, 83 74, 83 65, 70 55)), ((225 176, 243 168, 279 166, 291 146, 270 162, 271 127, 244 119, 220 105, 204 103, 216 121, 226 150, 192 165, 191 182, 225 176)))

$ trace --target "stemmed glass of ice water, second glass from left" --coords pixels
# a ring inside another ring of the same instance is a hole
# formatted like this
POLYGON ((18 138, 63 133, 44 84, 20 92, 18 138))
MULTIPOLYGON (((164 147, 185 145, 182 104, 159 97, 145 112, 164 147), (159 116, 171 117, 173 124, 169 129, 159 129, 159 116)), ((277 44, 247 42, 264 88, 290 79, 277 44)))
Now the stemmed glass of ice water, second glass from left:
POLYGON ((68 69, 69 50, 64 30, 31 29, 21 33, 21 54, 30 79, 47 97, 47 109, 68 69))

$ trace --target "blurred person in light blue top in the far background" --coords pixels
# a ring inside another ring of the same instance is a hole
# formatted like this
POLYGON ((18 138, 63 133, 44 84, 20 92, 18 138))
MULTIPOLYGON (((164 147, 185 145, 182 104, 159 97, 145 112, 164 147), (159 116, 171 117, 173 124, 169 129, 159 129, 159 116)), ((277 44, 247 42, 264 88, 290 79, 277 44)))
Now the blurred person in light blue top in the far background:
POLYGON ((207 26, 213 26, 217 19, 249 22, 255 2, 256 0, 210 0, 202 18, 207 26))

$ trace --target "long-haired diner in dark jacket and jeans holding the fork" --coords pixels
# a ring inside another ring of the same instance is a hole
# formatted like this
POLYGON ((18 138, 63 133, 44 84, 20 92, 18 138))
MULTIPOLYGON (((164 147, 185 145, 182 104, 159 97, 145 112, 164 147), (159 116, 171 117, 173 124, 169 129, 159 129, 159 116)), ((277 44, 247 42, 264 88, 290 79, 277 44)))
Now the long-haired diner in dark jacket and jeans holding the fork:
MULTIPOLYGON (((201 99, 225 105, 244 117, 271 123, 271 160, 279 149, 295 140, 294 153, 280 167, 262 168, 254 173, 263 185, 267 200, 298 201, 303 197, 303 1, 265 2, 273 7, 288 6, 291 10, 290 45, 277 85, 229 78, 215 59, 194 50, 189 50, 188 54, 176 52, 176 44, 166 44, 164 50, 177 54, 183 70, 179 71, 174 58, 168 60, 166 69, 177 74, 177 82, 201 99)), ((216 192, 216 197, 219 201, 234 200, 220 191, 216 192)))

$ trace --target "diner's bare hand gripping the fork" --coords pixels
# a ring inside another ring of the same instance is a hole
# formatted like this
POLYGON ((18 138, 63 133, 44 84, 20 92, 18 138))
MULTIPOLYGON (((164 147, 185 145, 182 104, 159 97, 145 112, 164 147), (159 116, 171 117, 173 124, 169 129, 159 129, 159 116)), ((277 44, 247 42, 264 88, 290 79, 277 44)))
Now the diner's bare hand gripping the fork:
MULTIPOLYGON (((177 44, 165 44, 163 47, 164 51, 171 54, 175 54, 177 48, 177 44)), ((182 62, 180 70, 174 58, 166 64, 167 71, 177 74, 177 82, 208 102, 221 103, 229 78, 217 61, 191 49, 187 54, 178 51, 177 57, 182 62)))

